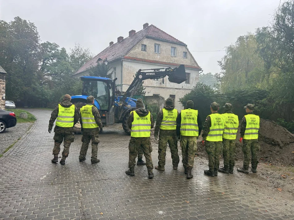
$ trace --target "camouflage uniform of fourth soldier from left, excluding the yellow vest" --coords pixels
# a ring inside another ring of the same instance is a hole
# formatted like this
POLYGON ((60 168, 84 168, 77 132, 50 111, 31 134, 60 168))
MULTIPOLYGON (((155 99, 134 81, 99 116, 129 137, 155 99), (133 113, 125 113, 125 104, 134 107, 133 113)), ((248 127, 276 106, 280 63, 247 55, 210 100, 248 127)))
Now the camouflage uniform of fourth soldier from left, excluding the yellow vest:
MULTIPOLYGON (((171 98, 170 98, 171 99, 171 98)), ((170 101, 167 99, 167 101, 170 101)), ((165 105, 164 108, 168 111, 172 111, 175 107, 173 106, 173 99, 171 99, 172 106, 165 105)), ((154 137, 158 137, 159 132, 159 142, 158 142, 158 168, 159 170, 164 170, 165 166, 165 157, 166 157, 166 145, 168 143, 170 152, 172 154, 173 168, 176 169, 180 162, 177 146, 177 133, 176 129, 174 130, 164 130, 160 129, 161 121, 163 120, 163 111, 162 109, 157 115, 156 125, 154 129, 154 137)))

